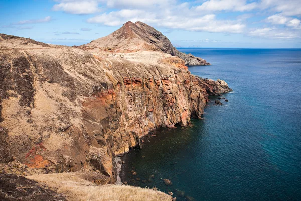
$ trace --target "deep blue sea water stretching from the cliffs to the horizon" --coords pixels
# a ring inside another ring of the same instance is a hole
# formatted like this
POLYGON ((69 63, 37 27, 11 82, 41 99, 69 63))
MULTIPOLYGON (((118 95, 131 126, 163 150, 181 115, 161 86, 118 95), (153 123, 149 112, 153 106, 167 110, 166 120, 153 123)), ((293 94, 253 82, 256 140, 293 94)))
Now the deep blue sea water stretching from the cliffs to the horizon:
POLYGON ((192 128, 156 130, 123 157, 123 181, 195 200, 301 200, 301 49, 179 50, 212 64, 189 70, 225 80, 229 102, 192 128))

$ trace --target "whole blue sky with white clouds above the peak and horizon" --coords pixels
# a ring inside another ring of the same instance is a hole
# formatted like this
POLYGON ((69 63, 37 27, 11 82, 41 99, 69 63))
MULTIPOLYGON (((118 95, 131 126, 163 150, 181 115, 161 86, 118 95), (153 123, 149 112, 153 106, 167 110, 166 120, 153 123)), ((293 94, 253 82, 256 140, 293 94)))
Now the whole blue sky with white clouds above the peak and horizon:
POLYGON ((0 33, 81 45, 141 21, 176 47, 301 48, 301 0, 0 0, 0 33))

